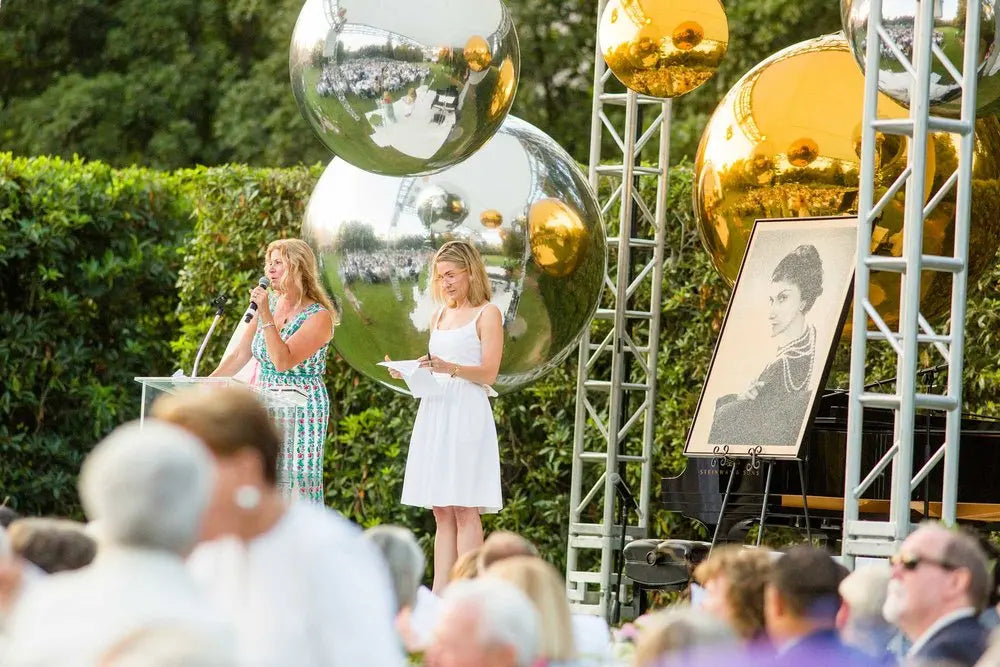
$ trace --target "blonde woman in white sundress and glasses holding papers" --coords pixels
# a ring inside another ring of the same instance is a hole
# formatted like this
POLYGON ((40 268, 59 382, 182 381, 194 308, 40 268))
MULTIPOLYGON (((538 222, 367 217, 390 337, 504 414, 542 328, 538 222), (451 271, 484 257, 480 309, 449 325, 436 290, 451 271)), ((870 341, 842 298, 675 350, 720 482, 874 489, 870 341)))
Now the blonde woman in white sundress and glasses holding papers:
POLYGON ((443 307, 431 317, 421 365, 445 390, 420 400, 403 481, 404 505, 434 512, 434 592, 459 556, 483 542, 481 513, 498 512, 500 452, 488 386, 503 354, 500 310, 479 251, 465 241, 441 246, 431 263, 431 294, 443 307))

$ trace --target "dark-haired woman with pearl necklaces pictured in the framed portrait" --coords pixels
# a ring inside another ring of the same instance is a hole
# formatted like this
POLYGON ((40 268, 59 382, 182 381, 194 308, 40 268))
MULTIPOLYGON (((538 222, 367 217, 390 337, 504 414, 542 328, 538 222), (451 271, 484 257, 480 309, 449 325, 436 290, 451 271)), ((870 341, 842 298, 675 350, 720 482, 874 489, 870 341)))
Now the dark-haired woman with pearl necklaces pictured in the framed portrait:
POLYGON ((800 245, 778 262, 767 297, 777 353, 744 391, 716 401, 709 444, 797 443, 816 362, 816 327, 807 315, 822 293, 823 262, 815 246, 800 245))

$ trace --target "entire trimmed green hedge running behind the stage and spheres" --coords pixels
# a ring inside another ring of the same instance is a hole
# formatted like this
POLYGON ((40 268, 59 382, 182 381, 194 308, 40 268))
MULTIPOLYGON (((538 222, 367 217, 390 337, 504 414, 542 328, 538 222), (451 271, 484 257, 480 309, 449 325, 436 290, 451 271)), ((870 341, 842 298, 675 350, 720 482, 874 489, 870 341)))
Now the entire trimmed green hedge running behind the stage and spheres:
MULTIPOLYGON (((115 171, 0 155, 0 500, 9 495, 25 512, 79 513, 73 482, 83 454, 115 424, 137 416, 132 376, 189 369, 211 320, 209 302, 222 292, 239 305, 230 308, 203 368, 218 361, 260 275, 264 247, 297 234, 320 171, 115 171)), ((691 169, 682 164, 672 170, 667 202, 655 430, 661 474, 683 468, 680 447, 729 298, 701 249, 690 202, 691 169)), ((992 414, 1000 388, 998 283, 994 264, 970 285, 968 319, 967 403, 992 414)), ((846 385, 844 345, 839 358, 832 383, 846 385)), ((885 355, 870 362, 873 378, 892 375, 885 355)), ((937 361, 926 356, 921 363, 937 361)), ((486 519, 487 530, 521 532, 560 565, 575 365, 571 355, 540 382, 497 399, 494 409, 506 508, 486 519)), ((327 504, 362 525, 407 525, 429 546, 430 512, 399 504, 415 402, 367 380, 336 354, 327 386, 327 504)), ((677 519, 657 512, 654 533, 691 531, 677 519)))

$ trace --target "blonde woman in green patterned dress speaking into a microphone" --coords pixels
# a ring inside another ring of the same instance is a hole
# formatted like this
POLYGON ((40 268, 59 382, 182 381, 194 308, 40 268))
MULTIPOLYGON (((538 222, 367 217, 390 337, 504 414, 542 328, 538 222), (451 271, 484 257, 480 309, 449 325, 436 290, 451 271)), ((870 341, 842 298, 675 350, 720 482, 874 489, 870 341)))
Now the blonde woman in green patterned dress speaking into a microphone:
POLYGON ((305 241, 274 241, 265 258, 272 292, 259 286, 250 292, 257 311, 212 376, 231 376, 252 355, 260 364, 255 386, 292 386, 306 394, 303 408, 273 410, 284 432, 278 484, 286 497, 322 504, 323 444, 330 419, 323 374, 337 311, 320 286, 316 256, 305 241))

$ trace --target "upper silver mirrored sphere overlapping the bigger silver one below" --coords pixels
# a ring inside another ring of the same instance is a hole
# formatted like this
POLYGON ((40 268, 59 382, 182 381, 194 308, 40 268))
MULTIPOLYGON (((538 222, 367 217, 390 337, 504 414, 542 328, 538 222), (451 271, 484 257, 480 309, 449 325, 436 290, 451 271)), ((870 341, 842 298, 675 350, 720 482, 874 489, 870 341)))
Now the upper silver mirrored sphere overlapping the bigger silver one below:
POLYGON ((302 115, 334 154, 412 176, 493 136, 514 101, 520 52, 500 0, 306 0, 289 71, 302 115))

